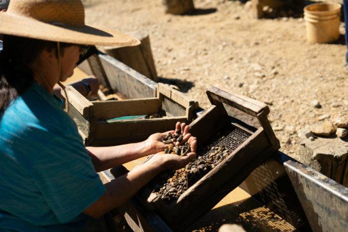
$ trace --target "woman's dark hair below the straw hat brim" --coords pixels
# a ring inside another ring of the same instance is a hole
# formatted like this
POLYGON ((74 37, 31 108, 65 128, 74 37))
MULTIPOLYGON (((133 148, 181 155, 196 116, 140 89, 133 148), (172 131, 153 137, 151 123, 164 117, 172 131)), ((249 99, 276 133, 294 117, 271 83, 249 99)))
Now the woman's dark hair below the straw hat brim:
MULTIPOLYGON (((62 44, 61 49, 67 46, 62 44)), ((29 65, 41 51, 51 51, 56 47, 57 42, 3 36, 3 50, 0 52, 0 115, 12 100, 32 85, 34 77, 29 65)))

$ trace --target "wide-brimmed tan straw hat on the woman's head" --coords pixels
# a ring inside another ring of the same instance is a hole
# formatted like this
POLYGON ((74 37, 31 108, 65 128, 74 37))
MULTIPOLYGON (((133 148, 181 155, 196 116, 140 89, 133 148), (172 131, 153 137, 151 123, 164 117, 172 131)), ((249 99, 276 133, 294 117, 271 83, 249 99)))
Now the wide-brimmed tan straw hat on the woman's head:
POLYGON ((0 12, 0 34, 99 46, 134 46, 122 32, 85 24, 81 0, 11 0, 0 12))

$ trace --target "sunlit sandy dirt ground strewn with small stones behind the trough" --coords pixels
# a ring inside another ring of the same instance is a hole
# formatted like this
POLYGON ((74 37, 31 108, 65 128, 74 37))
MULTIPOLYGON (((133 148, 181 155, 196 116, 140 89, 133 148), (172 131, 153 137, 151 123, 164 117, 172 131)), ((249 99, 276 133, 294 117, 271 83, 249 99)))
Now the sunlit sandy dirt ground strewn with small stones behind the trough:
POLYGON ((348 113, 344 36, 309 44, 302 17, 257 20, 251 4, 238 0, 194 0, 199 10, 184 16, 166 14, 162 0, 84 3, 89 24, 149 33, 161 81, 201 107, 210 105, 205 89, 213 83, 267 103, 281 151, 290 156, 298 157, 299 130, 324 114, 348 113))

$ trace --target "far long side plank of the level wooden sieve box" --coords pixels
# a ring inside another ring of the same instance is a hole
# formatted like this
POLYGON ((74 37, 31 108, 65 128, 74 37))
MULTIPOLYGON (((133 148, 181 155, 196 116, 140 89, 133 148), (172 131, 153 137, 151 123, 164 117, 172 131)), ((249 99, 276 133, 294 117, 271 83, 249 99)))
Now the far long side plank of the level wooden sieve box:
POLYGON ((129 99, 122 101, 92 101, 96 119, 110 119, 128 115, 145 115, 158 113, 160 102, 156 97, 129 99))

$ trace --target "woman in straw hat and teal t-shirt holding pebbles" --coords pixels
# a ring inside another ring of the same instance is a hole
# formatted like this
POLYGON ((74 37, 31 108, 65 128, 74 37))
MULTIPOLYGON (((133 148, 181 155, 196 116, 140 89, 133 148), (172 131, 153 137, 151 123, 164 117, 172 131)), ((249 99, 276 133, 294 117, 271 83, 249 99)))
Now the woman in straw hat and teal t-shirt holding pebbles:
MULTIPOLYGON (((81 0, 11 0, 0 22, 0 231, 80 231, 88 216, 102 216, 161 170, 195 156, 156 154, 165 133, 137 144, 84 147, 53 86, 73 75, 84 45, 139 42, 85 25, 81 0), (150 154, 156 155, 105 185, 96 174, 150 154)), ((181 130, 194 152, 195 138, 187 126, 181 130)))

